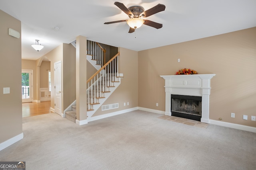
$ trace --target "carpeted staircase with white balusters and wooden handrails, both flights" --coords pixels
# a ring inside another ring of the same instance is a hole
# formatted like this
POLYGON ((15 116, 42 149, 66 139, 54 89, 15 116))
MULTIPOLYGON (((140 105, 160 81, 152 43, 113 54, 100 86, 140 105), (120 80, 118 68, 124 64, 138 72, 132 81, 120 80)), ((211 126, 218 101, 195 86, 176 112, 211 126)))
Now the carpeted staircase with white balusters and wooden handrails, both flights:
MULTIPOLYGON (((89 42, 87 49, 91 49, 92 46, 94 47, 94 45, 89 42)), ((102 48, 101 50, 106 52, 102 48)), ((100 52, 98 51, 96 54, 100 55, 100 52)), ((90 121, 92 115, 121 84, 121 78, 123 78, 122 74, 118 73, 118 70, 120 70, 120 53, 117 53, 102 67, 101 63, 105 63, 105 59, 104 57, 95 57, 94 55, 96 54, 88 51, 87 55, 87 60, 98 70, 94 75, 92 75, 92 77, 87 80, 87 87, 89 87, 86 90, 88 122, 90 121), (98 61, 99 59, 100 61, 98 61)), ((74 102, 72 106, 68 108, 68 111, 65 111, 65 116, 69 120, 76 123, 76 102, 74 102)))

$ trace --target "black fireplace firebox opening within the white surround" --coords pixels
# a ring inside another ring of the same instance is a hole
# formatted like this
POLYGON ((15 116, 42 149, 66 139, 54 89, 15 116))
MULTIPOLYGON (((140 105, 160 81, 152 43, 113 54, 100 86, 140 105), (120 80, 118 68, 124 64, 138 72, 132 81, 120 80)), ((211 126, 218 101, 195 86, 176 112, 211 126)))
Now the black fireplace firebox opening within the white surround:
POLYGON ((202 117, 202 97, 171 95, 172 116, 200 121, 202 117))

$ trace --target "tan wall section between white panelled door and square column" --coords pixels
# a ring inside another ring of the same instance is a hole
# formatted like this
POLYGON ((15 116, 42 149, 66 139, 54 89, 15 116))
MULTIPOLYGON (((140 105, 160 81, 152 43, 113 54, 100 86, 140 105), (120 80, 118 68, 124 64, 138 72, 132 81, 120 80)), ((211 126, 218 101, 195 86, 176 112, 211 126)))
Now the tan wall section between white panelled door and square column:
POLYGON ((76 48, 63 44, 63 110, 76 100, 76 48))

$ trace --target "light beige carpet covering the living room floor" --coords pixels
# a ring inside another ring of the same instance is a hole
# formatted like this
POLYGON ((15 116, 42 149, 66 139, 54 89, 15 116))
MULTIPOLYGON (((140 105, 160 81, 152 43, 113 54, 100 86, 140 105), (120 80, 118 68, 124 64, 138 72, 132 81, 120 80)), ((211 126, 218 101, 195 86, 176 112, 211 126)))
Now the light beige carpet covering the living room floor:
POLYGON ((26 170, 255 170, 256 133, 206 129, 132 111, 78 126, 56 113, 23 118, 0 161, 26 170))

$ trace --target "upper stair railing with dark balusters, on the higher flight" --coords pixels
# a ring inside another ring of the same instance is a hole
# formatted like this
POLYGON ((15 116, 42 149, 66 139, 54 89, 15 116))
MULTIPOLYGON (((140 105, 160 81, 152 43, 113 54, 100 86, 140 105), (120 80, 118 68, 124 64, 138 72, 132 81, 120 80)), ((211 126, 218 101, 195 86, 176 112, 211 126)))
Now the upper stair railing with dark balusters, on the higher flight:
POLYGON ((106 49, 97 42, 87 40, 87 55, 92 55, 92 60, 97 61, 97 65, 106 63, 106 49))

